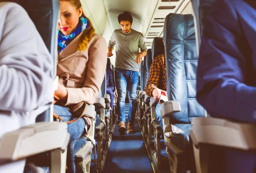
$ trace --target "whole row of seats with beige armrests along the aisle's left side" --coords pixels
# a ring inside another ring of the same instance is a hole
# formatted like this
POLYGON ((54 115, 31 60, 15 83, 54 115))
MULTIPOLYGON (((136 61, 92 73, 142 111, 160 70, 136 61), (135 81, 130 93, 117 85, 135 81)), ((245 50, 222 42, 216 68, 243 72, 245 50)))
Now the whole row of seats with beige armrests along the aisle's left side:
MULTIPOLYGON (((56 64, 59 0, 9 1, 18 3, 27 11, 56 64)), ((109 59, 108 66, 114 76, 114 66, 109 59)), ((54 69, 56 72, 55 66, 54 69)), ((54 80, 54 90, 57 86, 58 77, 54 80)), ((67 124, 53 122, 53 106, 51 106, 37 117, 35 124, 9 132, 1 138, 0 163, 5 164, 26 158, 26 165, 29 166, 25 167, 24 172, 43 170, 44 172, 89 173, 93 169, 101 172, 116 122, 116 116, 114 116, 116 100, 117 94, 114 92, 114 106, 110 115, 110 96, 106 94, 105 75, 96 103, 84 104, 84 107, 80 108, 83 111, 81 112, 83 117, 90 119, 87 122, 86 134, 73 141, 69 140, 67 124), (93 168, 90 168, 91 166, 93 168)))

